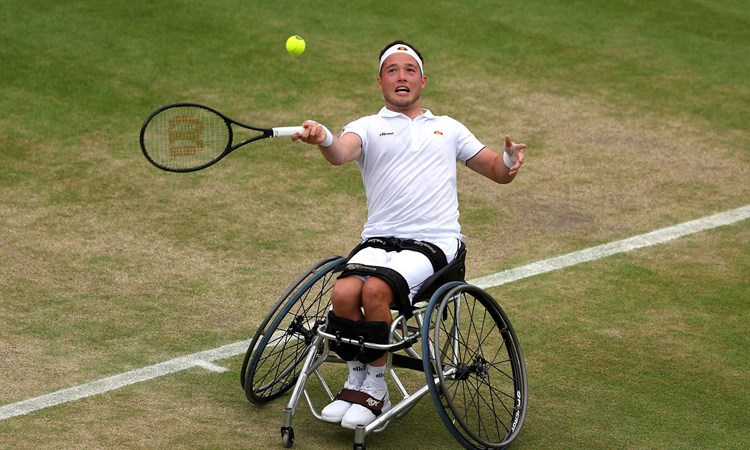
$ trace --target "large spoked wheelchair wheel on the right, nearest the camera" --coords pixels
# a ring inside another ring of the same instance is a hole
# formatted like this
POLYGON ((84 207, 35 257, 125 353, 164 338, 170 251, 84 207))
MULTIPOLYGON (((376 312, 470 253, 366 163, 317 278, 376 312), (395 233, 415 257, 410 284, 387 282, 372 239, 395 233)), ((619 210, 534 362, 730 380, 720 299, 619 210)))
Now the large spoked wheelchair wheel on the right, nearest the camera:
POLYGON ((523 353, 505 312, 482 289, 448 283, 425 311, 425 375, 440 418, 470 449, 505 448, 526 416, 523 353))

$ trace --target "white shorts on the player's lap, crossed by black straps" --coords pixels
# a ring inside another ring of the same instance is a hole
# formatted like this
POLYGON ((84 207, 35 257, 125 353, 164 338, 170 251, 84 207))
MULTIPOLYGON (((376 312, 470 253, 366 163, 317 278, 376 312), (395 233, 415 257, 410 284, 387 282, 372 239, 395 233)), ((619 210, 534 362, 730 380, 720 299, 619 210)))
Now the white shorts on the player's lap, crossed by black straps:
MULTIPOLYGON (((438 239, 430 241, 437 245, 445 253, 445 258, 450 264, 456 259, 459 240, 455 238, 438 239)), ((368 266, 387 267, 395 270, 406 280, 409 285, 409 301, 422 287, 422 282, 435 273, 429 258, 419 252, 402 250, 400 252, 389 252, 380 248, 365 247, 349 259, 349 264, 365 264, 368 266)), ((365 280, 368 277, 360 276, 365 280)))

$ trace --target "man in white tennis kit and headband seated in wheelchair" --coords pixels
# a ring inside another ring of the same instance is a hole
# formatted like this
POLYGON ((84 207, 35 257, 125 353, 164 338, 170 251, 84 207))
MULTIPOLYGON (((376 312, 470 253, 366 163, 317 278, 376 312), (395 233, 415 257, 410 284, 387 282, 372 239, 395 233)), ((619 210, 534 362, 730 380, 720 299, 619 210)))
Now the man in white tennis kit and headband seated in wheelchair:
MULTIPOLYGON (((333 135, 315 121, 292 139, 318 145, 334 165, 354 161, 367 194, 362 243, 336 281, 328 330, 387 343, 391 305, 410 302, 422 282, 450 263, 461 245, 456 162, 496 183, 513 181, 525 144, 505 135, 502 155, 485 147, 461 123, 420 106, 427 84, 422 55, 395 41, 380 53, 378 88, 385 107, 333 135)), ((386 354, 332 346, 347 360, 344 389, 322 411, 346 428, 368 425, 391 407, 386 354)))

